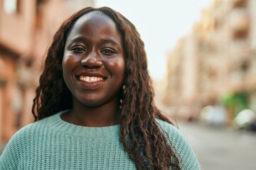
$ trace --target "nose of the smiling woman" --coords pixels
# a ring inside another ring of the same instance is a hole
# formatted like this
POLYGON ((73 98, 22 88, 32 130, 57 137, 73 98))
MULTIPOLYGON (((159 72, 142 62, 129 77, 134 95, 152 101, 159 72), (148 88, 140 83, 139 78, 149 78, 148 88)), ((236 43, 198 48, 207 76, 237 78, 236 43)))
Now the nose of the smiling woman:
POLYGON ((92 50, 85 57, 82 58, 81 64, 87 68, 99 68, 102 67, 102 60, 99 54, 92 50))

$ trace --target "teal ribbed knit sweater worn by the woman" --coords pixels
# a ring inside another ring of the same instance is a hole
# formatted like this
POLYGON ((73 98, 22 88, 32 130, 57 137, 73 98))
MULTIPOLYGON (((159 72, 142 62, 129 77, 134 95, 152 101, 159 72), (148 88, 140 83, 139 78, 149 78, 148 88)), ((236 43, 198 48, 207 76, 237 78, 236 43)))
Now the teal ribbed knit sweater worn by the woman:
MULTIPOLYGON (((82 127, 63 121, 61 113, 16 132, 1 154, 0 169, 136 169, 119 141, 119 125, 82 127)), ((157 122, 169 134, 181 169, 200 169, 181 132, 157 122)))

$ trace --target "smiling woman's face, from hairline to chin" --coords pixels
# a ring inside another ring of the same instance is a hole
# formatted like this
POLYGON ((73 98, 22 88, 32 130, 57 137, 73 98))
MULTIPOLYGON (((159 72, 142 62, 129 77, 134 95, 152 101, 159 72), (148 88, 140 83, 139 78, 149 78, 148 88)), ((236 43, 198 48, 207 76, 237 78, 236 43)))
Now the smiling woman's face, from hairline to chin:
POLYGON ((65 43, 63 78, 73 94, 73 106, 119 104, 124 47, 110 17, 93 11, 75 22, 65 43))

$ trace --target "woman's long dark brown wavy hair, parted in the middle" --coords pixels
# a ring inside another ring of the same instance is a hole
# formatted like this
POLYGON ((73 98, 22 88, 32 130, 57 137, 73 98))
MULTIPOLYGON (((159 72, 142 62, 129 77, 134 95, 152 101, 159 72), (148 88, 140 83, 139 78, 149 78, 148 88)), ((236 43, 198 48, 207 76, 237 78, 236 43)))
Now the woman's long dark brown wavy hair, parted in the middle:
POLYGON ((33 116, 41 120, 73 107, 70 91, 63 80, 62 60, 70 30, 75 21, 91 11, 112 18, 124 42, 125 70, 120 119, 120 140, 137 169, 180 169, 171 141, 156 118, 170 120, 154 105, 154 91, 147 70, 144 42, 135 26, 112 8, 83 8, 66 20, 55 33, 48 48, 40 84, 33 99, 33 116))

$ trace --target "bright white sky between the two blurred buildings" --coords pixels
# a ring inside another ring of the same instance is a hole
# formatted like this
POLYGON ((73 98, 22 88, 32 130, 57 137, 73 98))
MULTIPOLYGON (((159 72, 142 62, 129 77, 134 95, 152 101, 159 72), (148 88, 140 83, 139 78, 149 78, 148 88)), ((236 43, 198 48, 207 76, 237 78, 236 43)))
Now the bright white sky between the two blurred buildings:
POLYGON ((145 44, 151 78, 163 79, 168 53, 200 20, 201 11, 212 1, 95 0, 95 6, 109 6, 136 26, 145 44))

